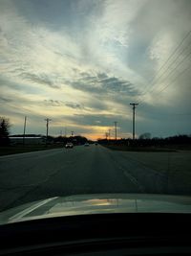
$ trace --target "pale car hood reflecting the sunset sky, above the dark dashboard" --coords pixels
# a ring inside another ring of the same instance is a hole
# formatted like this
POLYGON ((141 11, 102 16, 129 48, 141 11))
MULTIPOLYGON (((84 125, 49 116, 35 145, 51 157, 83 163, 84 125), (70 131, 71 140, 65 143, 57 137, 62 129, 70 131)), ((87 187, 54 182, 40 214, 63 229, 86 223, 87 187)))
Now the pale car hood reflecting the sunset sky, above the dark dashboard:
POLYGON ((34 201, 0 213, 0 223, 103 213, 191 213, 191 197, 92 194, 34 201))

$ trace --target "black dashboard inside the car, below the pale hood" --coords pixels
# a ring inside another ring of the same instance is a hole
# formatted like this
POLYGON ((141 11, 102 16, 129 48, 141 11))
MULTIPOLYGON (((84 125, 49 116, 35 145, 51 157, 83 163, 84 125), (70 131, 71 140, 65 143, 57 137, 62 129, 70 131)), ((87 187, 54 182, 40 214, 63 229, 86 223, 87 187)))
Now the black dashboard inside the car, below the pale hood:
POLYGON ((92 214, 0 227, 0 255, 191 255, 190 214, 92 214))

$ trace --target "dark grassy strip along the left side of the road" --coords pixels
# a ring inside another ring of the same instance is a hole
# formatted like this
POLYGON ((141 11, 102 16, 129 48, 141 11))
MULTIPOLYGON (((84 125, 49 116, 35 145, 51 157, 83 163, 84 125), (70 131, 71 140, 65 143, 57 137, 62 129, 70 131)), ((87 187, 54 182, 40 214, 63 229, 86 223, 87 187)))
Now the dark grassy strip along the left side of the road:
POLYGON ((0 156, 13 153, 30 152, 30 151, 47 151, 62 148, 63 145, 16 145, 9 147, 0 147, 0 156))

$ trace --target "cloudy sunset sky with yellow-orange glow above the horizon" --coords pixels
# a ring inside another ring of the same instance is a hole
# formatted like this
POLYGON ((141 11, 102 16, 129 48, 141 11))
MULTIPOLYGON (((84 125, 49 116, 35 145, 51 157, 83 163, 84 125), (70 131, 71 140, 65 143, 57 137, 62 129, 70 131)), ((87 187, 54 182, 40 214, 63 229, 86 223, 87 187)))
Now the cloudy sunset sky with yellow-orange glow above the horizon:
POLYGON ((190 0, 0 0, 11 134, 191 134, 190 0))

